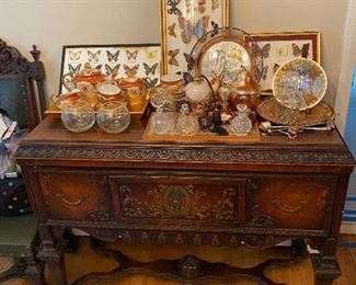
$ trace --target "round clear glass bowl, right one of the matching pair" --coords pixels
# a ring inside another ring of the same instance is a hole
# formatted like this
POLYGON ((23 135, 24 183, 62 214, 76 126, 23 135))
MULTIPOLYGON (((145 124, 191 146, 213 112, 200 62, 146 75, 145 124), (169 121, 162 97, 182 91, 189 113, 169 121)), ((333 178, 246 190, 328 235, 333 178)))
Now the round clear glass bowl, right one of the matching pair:
POLYGON ((96 114, 99 127, 108 134, 124 132, 130 123, 130 114, 125 102, 110 101, 102 104, 96 114))

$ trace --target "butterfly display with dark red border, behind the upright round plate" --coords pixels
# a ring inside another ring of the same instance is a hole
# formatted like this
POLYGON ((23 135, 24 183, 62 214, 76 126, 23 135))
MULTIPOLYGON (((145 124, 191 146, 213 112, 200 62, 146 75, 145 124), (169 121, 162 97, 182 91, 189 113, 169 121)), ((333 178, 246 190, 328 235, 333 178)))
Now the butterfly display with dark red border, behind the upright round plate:
POLYGON ((250 35, 255 57, 263 58, 259 70, 263 94, 272 94, 273 76, 278 67, 295 58, 312 59, 320 64, 320 32, 282 32, 250 35))

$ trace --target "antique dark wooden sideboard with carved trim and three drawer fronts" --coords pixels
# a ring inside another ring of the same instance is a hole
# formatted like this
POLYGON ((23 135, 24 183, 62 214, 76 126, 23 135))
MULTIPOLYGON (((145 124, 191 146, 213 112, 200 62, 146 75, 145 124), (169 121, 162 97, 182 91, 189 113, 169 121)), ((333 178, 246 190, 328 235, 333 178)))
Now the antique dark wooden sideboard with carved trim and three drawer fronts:
MULTIPOLYGON (((102 241, 256 250, 306 240, 320 251, 311 254, 317 283, 340 275, 335 250, 355 161, 336 129, 259 142, 145 141, 143 129, 134 121, 117 135, 96 126, 73 134, 47 117, 21 144, 16 160, 39 221, 38 255, 58 284, 67 284, 68 228, 102 241)), ((118 273, 142 267, 183 283, 251 273, 193 255, 151 265, 119 258, 118 273)), ((274 284, 263 274, 256 280, 274 284)))

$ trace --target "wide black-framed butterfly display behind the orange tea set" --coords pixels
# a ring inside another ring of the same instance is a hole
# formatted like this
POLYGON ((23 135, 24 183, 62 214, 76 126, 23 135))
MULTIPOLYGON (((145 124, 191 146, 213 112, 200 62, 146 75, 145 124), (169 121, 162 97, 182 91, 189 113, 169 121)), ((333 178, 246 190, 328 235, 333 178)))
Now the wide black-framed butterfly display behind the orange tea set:
POLYGON ((161 73, 160 44, 140 45, 66 45, 62 48, 59 93, 65 91, 64 75, 76 75, 87 62, 104 75, 118 78, 145 78, 149 87, 158 83, 161 73))

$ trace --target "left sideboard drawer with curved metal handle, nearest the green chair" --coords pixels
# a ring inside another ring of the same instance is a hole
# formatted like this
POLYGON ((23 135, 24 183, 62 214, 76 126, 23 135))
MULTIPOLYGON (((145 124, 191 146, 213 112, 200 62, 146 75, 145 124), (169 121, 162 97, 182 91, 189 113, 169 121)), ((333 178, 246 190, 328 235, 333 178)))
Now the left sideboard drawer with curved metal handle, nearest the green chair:
POLYGON ((111 221, 107 176, 91 172, 50 171, 37 174, 47 219, 111 221))

